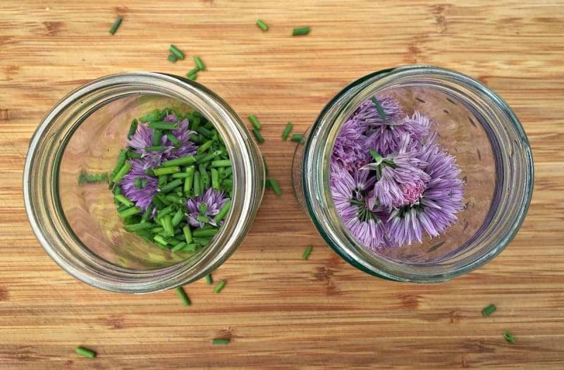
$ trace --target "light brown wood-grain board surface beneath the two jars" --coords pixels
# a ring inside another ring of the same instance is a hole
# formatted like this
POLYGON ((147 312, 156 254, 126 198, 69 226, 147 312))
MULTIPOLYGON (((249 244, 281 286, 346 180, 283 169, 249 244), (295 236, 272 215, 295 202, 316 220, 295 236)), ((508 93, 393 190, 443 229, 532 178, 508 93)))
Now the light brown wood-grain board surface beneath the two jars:
POLYGON ((0 4, 0 367, 2 369, 415 368, 564 366, 563 1, 17 1, 0 4), (525 4, 527 3, 527 4, 525 4), (123 23, 108 33, 116 13, 123 23), (255 26, 262 18, 268 32, 255 26), (307 37, 290 37, 310 25, 307 37), (64 94, 100 75, 158 70, 168 44, 199 55, 199 82, 264 123, 262 151, 283 196, 216 272, 174 292, 118 295, 68 276, 27 223, 27 144, 64 94), (508 249, 449 283, 372 278, 326 247, 290 189, 287 121, 305 130, 346 83, 431 63, 499 92, 529 135, 535 192, 508 249), (300 256, 314 245, 309 261, 300 256), (495 303, 488 318, 480 309, 495 303), (501 337, 517 338, 508 345, 501 337), (232 338, 214 346, 217 336, 232 338), (76 345, 99 353, 74 354, 76 345))

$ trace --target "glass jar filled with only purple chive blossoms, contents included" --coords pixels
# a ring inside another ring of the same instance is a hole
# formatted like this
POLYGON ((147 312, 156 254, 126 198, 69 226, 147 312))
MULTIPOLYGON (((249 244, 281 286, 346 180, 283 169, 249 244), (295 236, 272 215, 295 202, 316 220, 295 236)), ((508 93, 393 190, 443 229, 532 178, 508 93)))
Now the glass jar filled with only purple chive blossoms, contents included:
POLYGON ((373 276, 436 283, 491 261, 532 197, 522 125, 481 82, 381 70, 324 107, 293 159, 295 196, 326 243, 373 276))

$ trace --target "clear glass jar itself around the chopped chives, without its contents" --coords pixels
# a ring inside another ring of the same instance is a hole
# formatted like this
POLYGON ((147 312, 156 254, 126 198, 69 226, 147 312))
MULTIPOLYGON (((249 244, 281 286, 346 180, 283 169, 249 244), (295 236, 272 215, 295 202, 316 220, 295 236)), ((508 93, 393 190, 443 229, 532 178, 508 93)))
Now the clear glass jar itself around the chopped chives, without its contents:
POLYGON ((240 118, 202 85, 160 73, 111 75, 68 94, 37 128, 25 162, 27 216, 47 253, 85 283, 116 292, 175 288, 212 272, 243 241, 264 190, 261 158, 240 118), (195 254, 173 254, 125 232, 107 184, 78 184, 80 171, 113 170, 133 118, 168 106, 202 113, 234 164, 226 221, 195 254))

